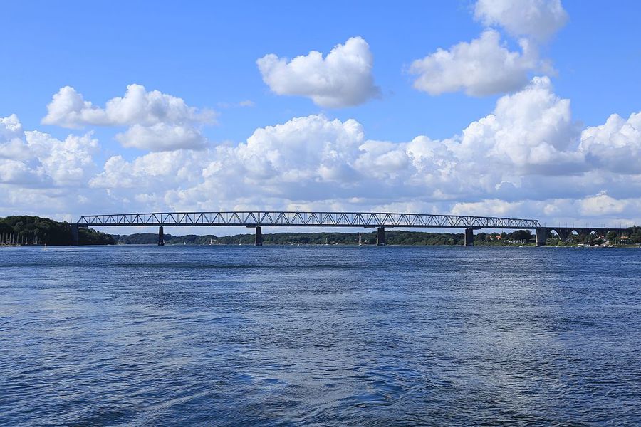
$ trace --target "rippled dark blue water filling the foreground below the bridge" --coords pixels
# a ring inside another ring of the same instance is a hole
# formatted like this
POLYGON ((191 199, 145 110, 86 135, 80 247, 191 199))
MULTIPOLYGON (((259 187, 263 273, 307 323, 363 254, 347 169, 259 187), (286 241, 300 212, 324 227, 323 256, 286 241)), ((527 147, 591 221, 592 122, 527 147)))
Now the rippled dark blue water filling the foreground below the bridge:
POLYGON ((0 248, 0 424, 641 423, 641 249, 0 248))

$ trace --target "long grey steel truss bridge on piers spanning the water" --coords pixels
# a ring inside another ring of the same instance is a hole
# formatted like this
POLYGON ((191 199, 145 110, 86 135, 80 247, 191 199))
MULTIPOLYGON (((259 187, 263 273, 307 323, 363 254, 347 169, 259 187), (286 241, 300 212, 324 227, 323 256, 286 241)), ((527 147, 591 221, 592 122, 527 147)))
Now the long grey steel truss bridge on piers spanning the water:
POLYGON ((377 244, 385 246, 386 228, 464 228, 465 245, 474 245, 474 230, 533 229, 536 242, 543 246, 546 233, 554 230, 559 236, 573 231, 588 233, 622 231, 622 228, 545 228, 536 219, 500 218, 496 216, 393 214, 386 212, 295 212, 295 211, 220 211, 220 212, 156 212, 151 214, 84 215, 72 224, 75 241, 78 228, 102 226, 157 226, 158 244, 164 244, 165 226, 242 226, 256 228, 256 246, 262 245, 262 227, 363 227, 377 228, 377 244))

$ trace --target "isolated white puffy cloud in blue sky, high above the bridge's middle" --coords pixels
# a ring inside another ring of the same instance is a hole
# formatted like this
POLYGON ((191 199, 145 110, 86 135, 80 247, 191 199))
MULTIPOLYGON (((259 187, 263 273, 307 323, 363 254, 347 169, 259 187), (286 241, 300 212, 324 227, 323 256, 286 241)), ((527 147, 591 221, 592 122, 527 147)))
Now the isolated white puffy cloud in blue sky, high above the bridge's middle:
POLYGON ((256 64, 273 93, 309 97, 320 107, 359 105, 380 93, 370 46, 360 37, 338 44, 325 58, 318 51, 292 60, 271 53, 256 64))

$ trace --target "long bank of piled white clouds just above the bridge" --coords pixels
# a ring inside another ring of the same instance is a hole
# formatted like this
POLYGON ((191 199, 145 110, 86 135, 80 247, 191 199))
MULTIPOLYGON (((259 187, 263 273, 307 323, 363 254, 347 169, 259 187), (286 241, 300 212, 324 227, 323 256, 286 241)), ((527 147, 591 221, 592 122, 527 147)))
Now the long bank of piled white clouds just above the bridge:
POLYGON ((584 128, 545 77, 447 139, 368 139, 356 120, 308 115, 240 144, 116 155, 97 166, 90 133, 58 140, 24 131, 15 115, 0 123, 6 209, 385 209, 641 222, 641 112, 584 128))

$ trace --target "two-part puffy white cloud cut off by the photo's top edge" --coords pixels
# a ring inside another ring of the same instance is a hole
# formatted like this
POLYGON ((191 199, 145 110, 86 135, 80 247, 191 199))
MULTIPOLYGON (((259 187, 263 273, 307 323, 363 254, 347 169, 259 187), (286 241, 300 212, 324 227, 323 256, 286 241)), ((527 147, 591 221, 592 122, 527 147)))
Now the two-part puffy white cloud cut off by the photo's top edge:
POLYGON ((479 38, 415 60, 410 73, 418 76, 417 90, 485 96, 519 90, 533 72, 556 73, 539 57, 538 45, 566 23, 560 0, 478 0, 474 16, 488 27, 505 28, 518 38, 521 51, 511 51, 496 29, 486 28, 479 38))

